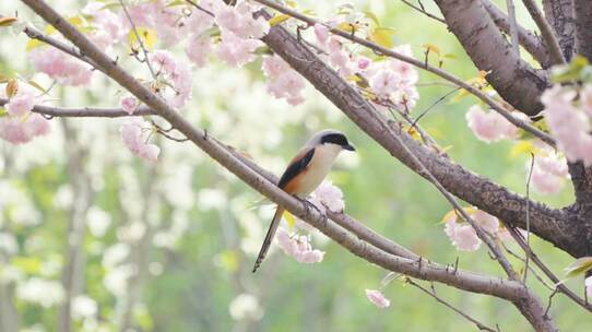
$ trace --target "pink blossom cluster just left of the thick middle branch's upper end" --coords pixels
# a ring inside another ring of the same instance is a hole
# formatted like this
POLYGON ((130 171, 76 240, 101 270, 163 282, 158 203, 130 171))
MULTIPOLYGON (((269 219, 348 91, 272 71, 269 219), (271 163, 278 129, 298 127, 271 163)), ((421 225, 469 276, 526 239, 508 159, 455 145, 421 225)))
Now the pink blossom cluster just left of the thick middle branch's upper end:
POLYGON ((229 66, 242 67, 253 61, 257 57, 254 50, 263 46, 263 42, 257 39, 244 39, 230 32, 222 32, 222 43, 217 46, 217 56, 229 66))

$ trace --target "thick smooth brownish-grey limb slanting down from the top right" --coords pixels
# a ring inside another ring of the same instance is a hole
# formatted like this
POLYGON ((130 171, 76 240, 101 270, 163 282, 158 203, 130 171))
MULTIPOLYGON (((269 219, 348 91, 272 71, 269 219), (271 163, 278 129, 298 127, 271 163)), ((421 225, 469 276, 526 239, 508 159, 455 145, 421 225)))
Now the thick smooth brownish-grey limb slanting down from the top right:
POLYGON ((535 70, 511 54, 501 32, 481 1, 436 0, 449 29, 457 36, 487 81, 518 110, 535 116, 542 109, 540 97, 549 86, 548 74, 535 70))

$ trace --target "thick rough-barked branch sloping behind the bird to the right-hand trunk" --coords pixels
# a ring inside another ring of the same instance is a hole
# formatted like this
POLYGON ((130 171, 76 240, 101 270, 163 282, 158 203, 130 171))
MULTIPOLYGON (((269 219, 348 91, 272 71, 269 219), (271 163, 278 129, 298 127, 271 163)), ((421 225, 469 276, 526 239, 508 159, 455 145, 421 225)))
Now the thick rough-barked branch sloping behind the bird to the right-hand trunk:
MULTIPOLYGON (((284 29, 273 28, 264 42, 391 155, 419 173, 404 153, 403 146, 382 129, 377 119, 380 115, 374 106, 313 52, 298 43, 296 37, 284 29)), ((451 163, 414 141, 395 123, 391 124, 404 144, 450 192, 517 227, 525 228, 525 198, 451 163)), ((570 236, 576 232, 570 228, 566 215, 536 202, 531 202, 530 206, 532 232, 569 252, 570 236)))

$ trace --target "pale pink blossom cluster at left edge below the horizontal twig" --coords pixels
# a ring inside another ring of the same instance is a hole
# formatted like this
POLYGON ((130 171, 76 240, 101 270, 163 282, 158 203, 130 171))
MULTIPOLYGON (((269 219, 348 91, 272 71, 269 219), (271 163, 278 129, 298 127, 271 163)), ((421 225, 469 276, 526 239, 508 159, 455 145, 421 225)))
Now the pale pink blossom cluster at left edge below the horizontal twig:
POLYGON ((38 114, 28 114, 24 118, 0 117, 0 139, 12 144, 23 144, 33 138, 49 133, 49 121, 38 114))

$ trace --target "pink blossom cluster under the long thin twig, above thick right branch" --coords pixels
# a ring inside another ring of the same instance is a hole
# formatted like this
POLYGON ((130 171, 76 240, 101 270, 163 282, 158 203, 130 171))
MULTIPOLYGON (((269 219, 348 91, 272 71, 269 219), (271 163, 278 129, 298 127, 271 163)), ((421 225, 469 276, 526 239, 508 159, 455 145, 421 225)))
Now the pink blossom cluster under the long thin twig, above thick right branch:
POLYGON ((485 112, 478 105, 469 108, 466 122, 475 137, 487 143, 513 139, 519 133, 518 128, 501 115, 495 111, 485 112))

